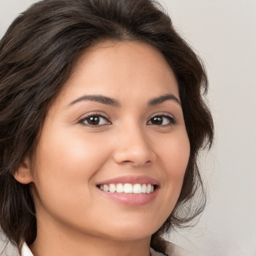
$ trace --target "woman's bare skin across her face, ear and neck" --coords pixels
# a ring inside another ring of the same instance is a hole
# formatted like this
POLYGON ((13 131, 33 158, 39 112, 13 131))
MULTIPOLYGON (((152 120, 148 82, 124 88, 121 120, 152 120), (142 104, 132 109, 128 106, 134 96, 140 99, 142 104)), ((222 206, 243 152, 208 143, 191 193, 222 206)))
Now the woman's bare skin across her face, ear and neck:
POLYGON ((15 178, 35 200, 34 255, 148 256, 150 236, 172 211, 189 157, 175 76, 152 46, 103 42, 86 50, 46 115, 32 158, 15 178), (84 95, 118 100, 113 106, 84 95), (97 126, 88 115, 100 114, 97 126), (152 122, 155 115, 162 122, 152 122), (174 122, 173 122, 174 118, 174 122), (157 180, 152 201, 125 205, 104 196, 98 182, 123 175, 157 180))

